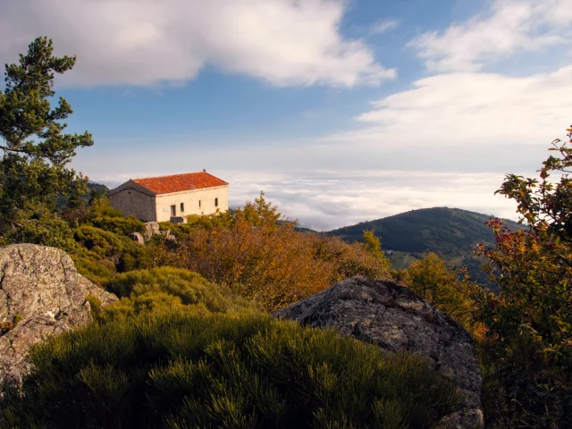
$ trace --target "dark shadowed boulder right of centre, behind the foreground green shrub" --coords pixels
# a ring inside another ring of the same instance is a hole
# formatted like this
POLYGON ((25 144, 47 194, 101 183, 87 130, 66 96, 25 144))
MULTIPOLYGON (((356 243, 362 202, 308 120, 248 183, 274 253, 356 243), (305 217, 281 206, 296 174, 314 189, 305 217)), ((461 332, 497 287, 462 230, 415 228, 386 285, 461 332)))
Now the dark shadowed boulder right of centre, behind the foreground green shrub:
POLYGON ((390 351, 426 357, 464 393, 462 408, 443 419, 447 427, 482 427, 481 370, 475 341, 458 322, 413 291, 393 282, 356 276, 276 313, 315 327, 334 327, 390 351))

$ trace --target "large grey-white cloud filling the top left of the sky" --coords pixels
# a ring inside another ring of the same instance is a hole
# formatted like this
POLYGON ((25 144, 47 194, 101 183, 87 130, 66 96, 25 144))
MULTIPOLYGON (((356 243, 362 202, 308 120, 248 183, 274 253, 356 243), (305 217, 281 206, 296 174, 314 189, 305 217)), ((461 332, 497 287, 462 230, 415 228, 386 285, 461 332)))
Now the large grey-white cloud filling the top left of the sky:
POLYGON ((7 0, 0 57, 47 35, 76 54, 66 85, 155 85, 206 65, 278 86, 378 84, 395 71, 341 36, 342 0, 7 0))

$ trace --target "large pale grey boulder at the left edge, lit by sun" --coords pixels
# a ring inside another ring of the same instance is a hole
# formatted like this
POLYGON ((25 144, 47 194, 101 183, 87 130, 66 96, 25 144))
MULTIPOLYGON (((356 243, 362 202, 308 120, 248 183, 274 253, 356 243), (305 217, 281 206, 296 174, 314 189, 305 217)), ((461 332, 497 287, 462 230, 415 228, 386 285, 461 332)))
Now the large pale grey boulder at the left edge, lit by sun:
POLYGON ((102 306, 117 300, 82 277, 58 248, 0 248, 0 381, 20 379, 29 347, 92 321, 88 296, 102 306))

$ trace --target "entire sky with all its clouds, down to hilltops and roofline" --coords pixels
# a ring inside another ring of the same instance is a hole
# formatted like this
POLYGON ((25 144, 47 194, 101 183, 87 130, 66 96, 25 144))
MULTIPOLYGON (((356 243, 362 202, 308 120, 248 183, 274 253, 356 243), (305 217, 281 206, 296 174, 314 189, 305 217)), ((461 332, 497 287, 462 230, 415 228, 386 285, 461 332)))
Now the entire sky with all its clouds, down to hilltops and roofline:
POLYGON ((572 0, 4 0, 0 60, 56 80, 93 181, 207 171, 326 230, 409 209, 516 218, 572 120, 572 0))

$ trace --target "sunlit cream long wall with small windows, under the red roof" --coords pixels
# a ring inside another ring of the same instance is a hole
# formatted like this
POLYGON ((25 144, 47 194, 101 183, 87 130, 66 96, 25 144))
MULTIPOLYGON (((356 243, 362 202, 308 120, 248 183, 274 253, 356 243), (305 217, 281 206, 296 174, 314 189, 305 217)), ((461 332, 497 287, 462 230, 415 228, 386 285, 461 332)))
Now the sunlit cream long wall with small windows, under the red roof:
POLYGON ((189 214, 213 214, 218 208, 221 212, 229 209, 229 187, 219 186, 216 188, 188 190, 156 196, 156 221, 167 222, 171 218, 171 206, 175 206, 176 216, 189 214), (218 206, 214 206, 214 200, 218 198, 218 206), (200 206, 198 202, 200 201, 200 206), (181 213, 181 203, 184 212, 181 213))

